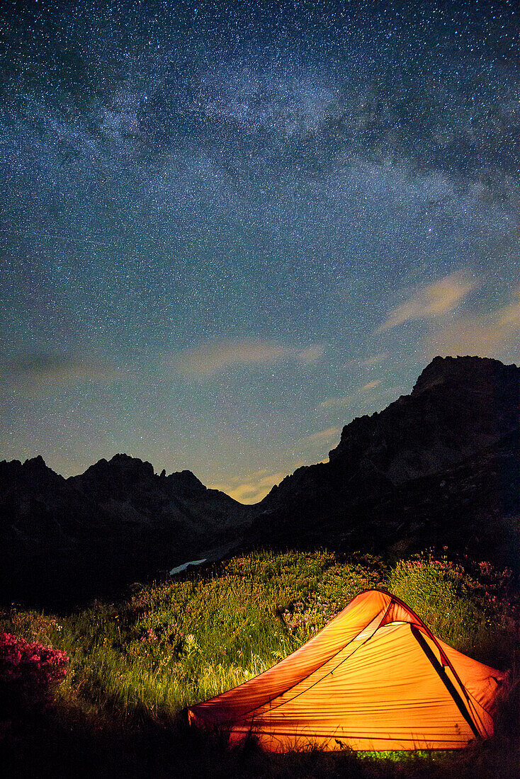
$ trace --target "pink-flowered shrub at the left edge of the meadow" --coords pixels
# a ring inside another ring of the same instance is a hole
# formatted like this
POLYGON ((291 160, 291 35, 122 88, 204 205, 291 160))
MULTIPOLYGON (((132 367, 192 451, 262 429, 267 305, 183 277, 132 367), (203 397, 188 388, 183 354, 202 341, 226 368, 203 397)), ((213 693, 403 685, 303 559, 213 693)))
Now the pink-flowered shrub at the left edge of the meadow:
POLYGON ((37 641, 0 633, 0 710, 12 715, 44 707, 66 675, 69 657, 37 641))

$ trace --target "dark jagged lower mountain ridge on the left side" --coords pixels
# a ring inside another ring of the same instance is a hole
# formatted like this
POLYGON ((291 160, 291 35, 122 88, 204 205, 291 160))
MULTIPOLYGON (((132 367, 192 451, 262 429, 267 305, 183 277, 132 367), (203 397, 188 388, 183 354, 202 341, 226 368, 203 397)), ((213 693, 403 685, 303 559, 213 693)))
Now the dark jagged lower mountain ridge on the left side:
POLYGON ((69 479, 41 457, 0 463, 2 599, 70 605, 228 548, 247 509, 189 471, 127 455, 69 479), (204 555, 203 555, 204 556, 204 555))

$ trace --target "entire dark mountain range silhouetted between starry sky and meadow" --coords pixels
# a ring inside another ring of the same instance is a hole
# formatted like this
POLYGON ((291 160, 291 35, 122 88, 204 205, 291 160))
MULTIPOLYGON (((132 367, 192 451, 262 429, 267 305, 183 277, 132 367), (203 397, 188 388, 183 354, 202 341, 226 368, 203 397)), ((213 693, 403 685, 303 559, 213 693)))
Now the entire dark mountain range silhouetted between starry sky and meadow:
POLYGON ((520 368, 435 358, 408 396, 343 428, 330 461, 256 506, 119 454, 68 479, 0 463, 4 599, 68 605, 187 559, 256 545, 518 560, 520 368))

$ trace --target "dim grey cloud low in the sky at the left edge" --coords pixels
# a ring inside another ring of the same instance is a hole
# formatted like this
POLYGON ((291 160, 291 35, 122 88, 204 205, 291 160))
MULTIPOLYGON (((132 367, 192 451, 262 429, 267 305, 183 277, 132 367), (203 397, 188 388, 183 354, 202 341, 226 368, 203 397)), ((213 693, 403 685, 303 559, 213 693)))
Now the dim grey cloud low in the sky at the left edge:
POLYGON ((0 375, 9 385, 34 390, 80 382, 106 382, 120 378, 115 365, 71 354, 25 354, 2 361, 0 375))

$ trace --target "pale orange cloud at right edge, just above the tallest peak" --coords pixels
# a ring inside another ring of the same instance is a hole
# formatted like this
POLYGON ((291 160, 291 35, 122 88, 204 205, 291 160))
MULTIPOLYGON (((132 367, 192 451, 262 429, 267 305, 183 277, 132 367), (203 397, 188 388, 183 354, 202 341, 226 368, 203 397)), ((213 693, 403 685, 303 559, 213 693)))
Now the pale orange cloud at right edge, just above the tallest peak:
POLYGON ((520 356, 519 337, 520 290, 515 292, 515 300, 502 308, 481 315, 462 315, 449 326, 430 333, 426 347, 430 357, 435 354, 493 357, 509 346, 520 356))

